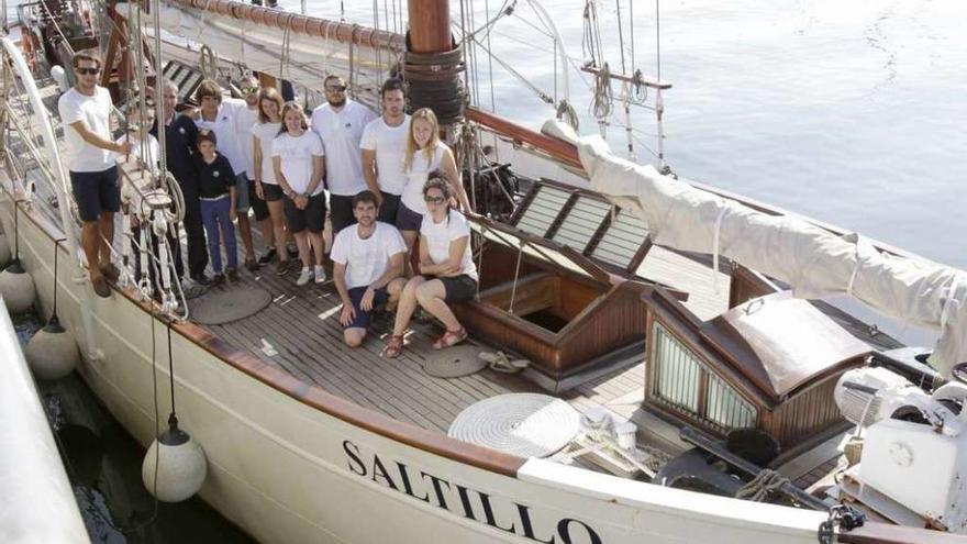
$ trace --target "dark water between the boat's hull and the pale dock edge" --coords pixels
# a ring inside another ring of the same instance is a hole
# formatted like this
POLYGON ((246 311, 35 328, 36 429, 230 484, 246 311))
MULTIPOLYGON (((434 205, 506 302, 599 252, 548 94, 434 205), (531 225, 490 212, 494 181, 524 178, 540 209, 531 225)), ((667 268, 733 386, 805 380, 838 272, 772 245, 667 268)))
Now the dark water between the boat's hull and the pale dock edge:
MULTIPOLYGON (((25 346, 43 323, 13 317, 25 346)), ((96 544, 248 544, 254 541, 197 497, 155 502, 141 480, 145 451, 98 401, 77 373, 37 389, 55 433, 91 542, 96 544)))

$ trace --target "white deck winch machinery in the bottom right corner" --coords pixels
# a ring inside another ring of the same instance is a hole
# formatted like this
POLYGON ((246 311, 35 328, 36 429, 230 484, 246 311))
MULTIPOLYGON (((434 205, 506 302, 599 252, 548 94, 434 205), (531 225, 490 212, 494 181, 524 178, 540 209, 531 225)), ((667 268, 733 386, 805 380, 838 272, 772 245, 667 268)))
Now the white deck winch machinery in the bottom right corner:
POLYGON ((834 398, 863 444, 840 490, 897 523, 967 533, 967 385, 927 392, 866 367, 844 374, 834 398))

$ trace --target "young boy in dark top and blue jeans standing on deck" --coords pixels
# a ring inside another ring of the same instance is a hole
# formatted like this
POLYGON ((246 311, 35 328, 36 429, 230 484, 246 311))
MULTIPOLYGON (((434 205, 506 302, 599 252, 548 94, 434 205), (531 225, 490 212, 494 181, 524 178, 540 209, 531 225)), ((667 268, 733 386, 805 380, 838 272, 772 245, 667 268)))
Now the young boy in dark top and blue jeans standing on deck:
POLYGON ((191 157, 198 177, 198 193, 201 201, 201 221, 208 235, 208 251, 214 277, 213 285, 225 280, 238 280, 238 253, 235 242, 235 171, 222 154, 218 152, 214 132, 204 129, 198 132, 198 154, 191 157), (221 235, 219 234, 221 229, 221 235), (229 267, 222 274, 222 252, 220 241, 225 241, 229 267))

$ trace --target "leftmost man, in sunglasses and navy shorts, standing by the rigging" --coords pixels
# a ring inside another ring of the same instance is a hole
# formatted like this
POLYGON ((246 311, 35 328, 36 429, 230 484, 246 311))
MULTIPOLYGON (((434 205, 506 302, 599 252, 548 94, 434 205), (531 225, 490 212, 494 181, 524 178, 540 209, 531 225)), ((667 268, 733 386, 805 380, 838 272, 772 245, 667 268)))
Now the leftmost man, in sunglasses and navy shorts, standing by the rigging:
POLYGON ((110 297, 108 280, 116 280, 118 267, 111 263, 114 213, 121 210, 121 186, 114 153, 131 152, 127 141, 111 137, 111 93, 98 86, 101 59, 87 53, 71 60, 77 85, 57 102, 67 141, 67 169, 81 227, 81 245, 87 257, 91 287, 99 297, 110 297))

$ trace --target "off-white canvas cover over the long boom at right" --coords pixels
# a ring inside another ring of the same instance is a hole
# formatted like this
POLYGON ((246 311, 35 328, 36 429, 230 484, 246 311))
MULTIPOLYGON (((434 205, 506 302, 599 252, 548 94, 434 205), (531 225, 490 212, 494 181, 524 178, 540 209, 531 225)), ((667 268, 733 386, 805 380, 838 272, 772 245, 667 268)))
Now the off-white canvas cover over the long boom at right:
MULTIPOLYGON (((549 130, 548 130, 549 129, 549 130)), ((591 189, 638 213, 656 244, 725 256, 792 286, 800 298, 851 296, 908 323, 938 330, 930 363, 949 375, 967 362, 967 274, 877 251, 803 220, 769 215, 614 156, 600 136, 573 140, 591 189)))

